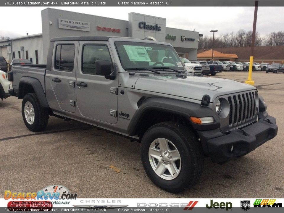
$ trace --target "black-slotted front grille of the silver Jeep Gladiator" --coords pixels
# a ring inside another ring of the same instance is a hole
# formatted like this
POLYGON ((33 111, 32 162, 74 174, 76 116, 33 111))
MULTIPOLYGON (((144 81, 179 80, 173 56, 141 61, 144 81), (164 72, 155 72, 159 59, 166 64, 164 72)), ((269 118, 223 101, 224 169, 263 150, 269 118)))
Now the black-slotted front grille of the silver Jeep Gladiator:
POLYGON ((254 120, 257 116, 256 91, 228 96, 230 105, 229 128, 254 120))

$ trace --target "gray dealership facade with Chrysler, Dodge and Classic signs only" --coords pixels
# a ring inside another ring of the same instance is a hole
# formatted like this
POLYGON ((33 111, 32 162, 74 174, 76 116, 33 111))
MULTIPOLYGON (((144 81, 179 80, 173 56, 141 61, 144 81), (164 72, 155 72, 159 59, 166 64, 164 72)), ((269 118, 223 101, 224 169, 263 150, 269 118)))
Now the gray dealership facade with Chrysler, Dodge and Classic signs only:
MULTIPOLYGON (((166 19, 131 12, 128 21, 46 8, 41 11, 43 58, 54 37, 106 35, 155 38, 172 44, 180 57, 196 60, 199 32, 166 27, 166 19)), ((46 61, 45 61, 46 62, 46 61)))

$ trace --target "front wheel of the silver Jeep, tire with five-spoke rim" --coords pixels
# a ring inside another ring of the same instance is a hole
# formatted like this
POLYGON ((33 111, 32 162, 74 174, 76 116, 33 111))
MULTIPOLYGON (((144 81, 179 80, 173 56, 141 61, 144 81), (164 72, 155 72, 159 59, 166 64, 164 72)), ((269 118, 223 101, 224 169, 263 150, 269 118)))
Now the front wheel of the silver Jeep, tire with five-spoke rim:
POLYGON ((149 128, 141 142, 143 167, 160 188, 178 193, 191 188, 201 177, 201 144, 185 126, 162 122, 149 128))

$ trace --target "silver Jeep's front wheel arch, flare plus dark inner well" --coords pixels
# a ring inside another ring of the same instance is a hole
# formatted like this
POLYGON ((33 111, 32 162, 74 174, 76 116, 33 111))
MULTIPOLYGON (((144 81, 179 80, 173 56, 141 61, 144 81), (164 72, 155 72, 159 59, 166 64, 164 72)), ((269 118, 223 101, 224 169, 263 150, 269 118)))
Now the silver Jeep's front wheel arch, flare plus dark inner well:
POLYGON ((220 123, 197 125, 190 121, 190 117, 212 116, 212 110, 200 104, 191 103, 169 98, 146 98, 133 115, 129 125, 128 134, 130 136, 143 136, 145 131, 152 125, 165 121, 177 121, 185 124, 193 131, 215 129, 220 123))

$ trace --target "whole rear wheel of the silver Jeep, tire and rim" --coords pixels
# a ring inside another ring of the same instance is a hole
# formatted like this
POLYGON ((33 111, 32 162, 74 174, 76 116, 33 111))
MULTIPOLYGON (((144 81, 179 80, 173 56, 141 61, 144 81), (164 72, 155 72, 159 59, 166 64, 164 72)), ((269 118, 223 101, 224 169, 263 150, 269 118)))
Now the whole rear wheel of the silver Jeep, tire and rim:
POLYGON ((48 109, 42 108, 35 93, 28 93, 22 101, 22 116, 26 127, 38 132, 43 130, 48 122, 48 109))

